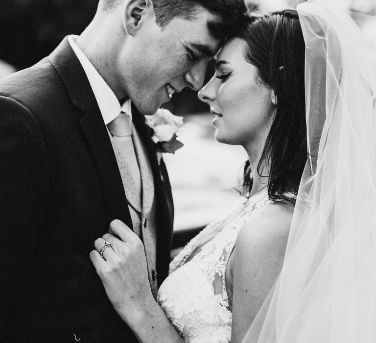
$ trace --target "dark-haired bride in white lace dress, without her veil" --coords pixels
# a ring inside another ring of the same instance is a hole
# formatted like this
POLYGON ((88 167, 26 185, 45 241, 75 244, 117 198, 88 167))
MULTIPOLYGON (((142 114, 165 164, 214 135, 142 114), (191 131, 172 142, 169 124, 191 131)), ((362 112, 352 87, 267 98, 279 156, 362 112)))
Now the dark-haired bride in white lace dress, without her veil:
POLYGON ((171 262, 158 302, 128 227, 113 221, 95 241, 94 267, 141 342, 241 342, 256 317, 282 267, 306 161, 304 53, 298 15, 286 10, 249 18, 218 54, 199 98, 215 138, 248 154, 244 203, 171 262))

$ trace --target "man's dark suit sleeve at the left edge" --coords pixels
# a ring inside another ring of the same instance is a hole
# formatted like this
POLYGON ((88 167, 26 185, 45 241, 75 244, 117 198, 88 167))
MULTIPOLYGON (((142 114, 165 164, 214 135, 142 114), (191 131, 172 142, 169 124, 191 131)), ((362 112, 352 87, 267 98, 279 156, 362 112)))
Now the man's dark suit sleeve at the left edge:
POLYGON ((33 251, 46 227, 47 171, 38 122, 22 104, 0 96, 1 332, 17 321, 25 301, 33 251))

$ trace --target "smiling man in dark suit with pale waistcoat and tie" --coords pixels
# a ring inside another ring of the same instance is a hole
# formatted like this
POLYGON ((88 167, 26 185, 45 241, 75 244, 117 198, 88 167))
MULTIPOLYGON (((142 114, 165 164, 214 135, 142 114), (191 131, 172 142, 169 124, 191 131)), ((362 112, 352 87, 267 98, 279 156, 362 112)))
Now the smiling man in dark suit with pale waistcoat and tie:
POLYGON ((144 242, 154 292, 166 277, 171 189, 143 115, 202 86, 243 11, 241 0, 100 0, 80 36, 0 81, 1 340, 137 342, 89 253, 119 219, 144 242))

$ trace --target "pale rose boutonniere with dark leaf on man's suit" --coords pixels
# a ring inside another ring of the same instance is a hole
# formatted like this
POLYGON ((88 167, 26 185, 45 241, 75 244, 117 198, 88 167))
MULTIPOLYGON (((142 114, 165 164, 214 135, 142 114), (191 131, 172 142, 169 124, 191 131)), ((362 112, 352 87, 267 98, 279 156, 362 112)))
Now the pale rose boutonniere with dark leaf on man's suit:
POLYGON ((157 151, 174 153, 184 146, 177 140, 184 123, 183 117, 174 116, 170 111, 159 108, 153 115, 145 118, 157 151))

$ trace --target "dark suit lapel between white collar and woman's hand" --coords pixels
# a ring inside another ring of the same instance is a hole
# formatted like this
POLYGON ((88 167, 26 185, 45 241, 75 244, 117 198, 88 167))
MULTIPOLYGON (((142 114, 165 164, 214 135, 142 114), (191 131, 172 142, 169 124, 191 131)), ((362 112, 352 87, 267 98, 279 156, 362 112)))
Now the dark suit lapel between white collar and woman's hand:
POLYGON ((109 223, 119 219, 132 229, 132 220, 126 206, 127 199, 106 125, 87 76, 67 37, 51 53, 49 59, 59 73, 73 105, 81 110, 79 125, 88 142, 102 183, 109 223))

